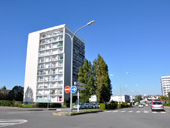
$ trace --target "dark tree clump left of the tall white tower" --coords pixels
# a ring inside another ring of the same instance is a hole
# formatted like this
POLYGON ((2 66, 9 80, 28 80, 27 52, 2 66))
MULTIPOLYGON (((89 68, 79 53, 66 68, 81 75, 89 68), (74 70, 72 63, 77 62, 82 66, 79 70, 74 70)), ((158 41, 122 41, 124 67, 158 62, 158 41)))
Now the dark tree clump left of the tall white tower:
POLYGON ((21 86, 14 86, 12 90, 8 91, 5 86, 0 89, 0 100, 15 100, 23 101, 24 88, 21 86))

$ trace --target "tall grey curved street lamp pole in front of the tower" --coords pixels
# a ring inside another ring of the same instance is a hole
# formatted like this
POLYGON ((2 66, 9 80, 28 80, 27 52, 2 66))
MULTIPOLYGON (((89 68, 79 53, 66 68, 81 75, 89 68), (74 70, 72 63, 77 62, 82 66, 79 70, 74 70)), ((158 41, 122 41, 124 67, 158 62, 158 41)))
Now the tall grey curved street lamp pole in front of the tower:
MULTIPOLYGON (((86 25, 84 25, 83 27, 79 28, 72 36, 71 38, 71 74, 70 74, 70 87, 72 87, 73 85, 73 41, 74 41, 74 36, 76 35, 76 33, 78 31, 80 31, 82 28, 88 26, 88 25, 91 25, 91 24, 94 24, 94 20, 93 21, 90 21, 89 23, 87 23, 86 25)), ((70 112, 72 112, 72 92, 70 92, 70 112)))

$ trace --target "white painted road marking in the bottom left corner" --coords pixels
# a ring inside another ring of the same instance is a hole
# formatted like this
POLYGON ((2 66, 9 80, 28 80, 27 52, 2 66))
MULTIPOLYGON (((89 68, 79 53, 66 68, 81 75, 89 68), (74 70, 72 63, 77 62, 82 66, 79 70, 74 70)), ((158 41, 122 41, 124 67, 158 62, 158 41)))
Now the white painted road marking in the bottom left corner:
POLYGON ((24 119, 0 119, 0 127, 23 124, 26 122, 27 120, 24 119))

